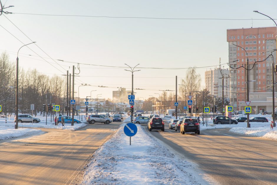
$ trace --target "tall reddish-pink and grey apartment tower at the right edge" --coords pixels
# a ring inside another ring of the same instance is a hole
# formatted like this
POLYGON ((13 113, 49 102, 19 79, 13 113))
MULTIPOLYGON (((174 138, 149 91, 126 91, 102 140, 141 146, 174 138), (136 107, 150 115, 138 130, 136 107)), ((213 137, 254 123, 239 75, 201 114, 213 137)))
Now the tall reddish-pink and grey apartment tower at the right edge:
MULTIPOLYGON (((240 101, 246 101, 249 92, 269 92, 272 89, 271 52, 276 49, 276 27, 227 30, 230 66, 230 103, 239 110, 240 101), (244 50, 238 46, 244 48, 244 50), (249 58, 249 81, 246 80, 246 59, 249 58)), ((276 53, 273 52, 276 61, 276 53)), ((276 77, 275 77, 276 78, 276 77)), ((250 100, 251 101, 251 100, 250 100)))

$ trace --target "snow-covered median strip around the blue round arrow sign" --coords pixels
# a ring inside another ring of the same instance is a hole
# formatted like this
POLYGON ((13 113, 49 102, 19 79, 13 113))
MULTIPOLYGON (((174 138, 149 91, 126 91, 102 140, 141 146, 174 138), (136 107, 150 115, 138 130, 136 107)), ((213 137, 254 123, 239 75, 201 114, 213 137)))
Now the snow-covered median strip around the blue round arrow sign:
POLYGON ((208 184, 188 161, 178 158, 141 125, 130 139, 123 127, 104 143, 86 166, 82 184, 208 184))

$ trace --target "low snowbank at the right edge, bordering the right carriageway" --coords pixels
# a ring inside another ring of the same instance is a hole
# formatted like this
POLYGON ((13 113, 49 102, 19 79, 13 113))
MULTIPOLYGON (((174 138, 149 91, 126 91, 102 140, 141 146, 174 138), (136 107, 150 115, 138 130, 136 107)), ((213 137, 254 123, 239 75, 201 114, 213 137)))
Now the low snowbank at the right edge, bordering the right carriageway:
POLYGON ((265 129, 264 127, 257 127, 257 128, 236 127, 236 128, 231 128, 230 132, 277 140, 277 131, 265 129))

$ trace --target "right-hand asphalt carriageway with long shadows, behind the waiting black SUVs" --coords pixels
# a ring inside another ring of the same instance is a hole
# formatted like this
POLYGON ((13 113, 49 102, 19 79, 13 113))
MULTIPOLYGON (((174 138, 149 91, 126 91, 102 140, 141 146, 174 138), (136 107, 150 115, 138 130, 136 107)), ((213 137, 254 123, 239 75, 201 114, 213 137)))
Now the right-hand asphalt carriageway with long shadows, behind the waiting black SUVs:
POLYGON ((219 184, 277 184, 277 141, 235 134, 229 129, 182 135, 168 127, 166 124, 165 132, 148 132, 197 163, 219 184))

